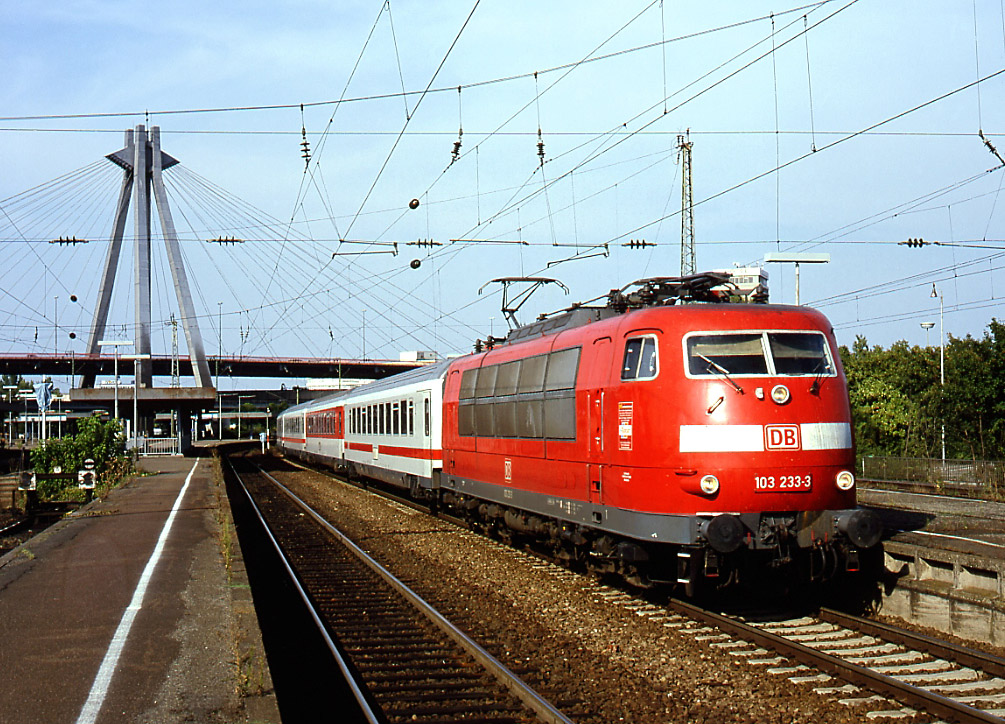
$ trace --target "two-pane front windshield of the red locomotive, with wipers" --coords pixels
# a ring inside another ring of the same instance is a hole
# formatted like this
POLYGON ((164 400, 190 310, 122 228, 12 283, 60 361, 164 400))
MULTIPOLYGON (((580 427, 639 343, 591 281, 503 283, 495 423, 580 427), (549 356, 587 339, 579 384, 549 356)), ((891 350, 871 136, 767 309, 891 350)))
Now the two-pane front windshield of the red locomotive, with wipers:
POLYGON ((686 339, 692 376, 835 374, 827 340, 818 332, 695 334, 686 339), (717 369, 718 367, 718 369, 717 369))

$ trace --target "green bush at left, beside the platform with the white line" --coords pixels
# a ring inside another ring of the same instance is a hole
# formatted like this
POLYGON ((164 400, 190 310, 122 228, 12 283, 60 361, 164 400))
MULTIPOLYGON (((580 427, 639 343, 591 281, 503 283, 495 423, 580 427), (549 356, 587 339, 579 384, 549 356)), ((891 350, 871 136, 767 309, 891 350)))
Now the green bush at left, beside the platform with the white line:
POLYGON ((84 417, 77 422, 75 435, 45 440, 31 451, 31 466, 35 473, 52 473, 60 468, 66 475, 74 476, 70 483, 39 481, 38 496, 42 500, 65 499, 76 493, 76 472, 83 470, 83 462, 94 461, 102 488, 116 485, 132 472, 126 456, 126 438, 122 423, 115 419, 84 417))

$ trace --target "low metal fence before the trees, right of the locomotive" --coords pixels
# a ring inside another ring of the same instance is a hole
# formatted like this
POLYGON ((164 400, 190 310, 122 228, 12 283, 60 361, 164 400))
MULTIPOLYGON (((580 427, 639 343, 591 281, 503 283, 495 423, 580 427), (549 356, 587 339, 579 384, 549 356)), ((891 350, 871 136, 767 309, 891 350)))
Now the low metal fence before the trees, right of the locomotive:
POLYGON ((863 457, 859 476, 866 480, 915 483, 958 494, 998 497, 1005 493, 1005 461, 863 457))

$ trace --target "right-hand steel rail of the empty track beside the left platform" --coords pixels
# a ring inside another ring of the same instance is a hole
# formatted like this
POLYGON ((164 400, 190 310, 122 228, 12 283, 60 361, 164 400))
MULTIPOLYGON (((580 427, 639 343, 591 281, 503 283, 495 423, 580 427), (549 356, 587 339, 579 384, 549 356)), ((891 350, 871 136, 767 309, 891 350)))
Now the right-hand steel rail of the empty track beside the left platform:
POLYGON ((459 647, 466 651, 475 661, 478 662, 486 671, 488 671, 502 686, 505 686, 514 696, 520 699, 529 709, 531 709, 537 716, 547 724, 575 724, 571 719, 566 717, 561 711, 556 709, 551 702, 542 697, 531 687, 529 687, 523 680, 520 679, 516 674, 514 674, 505 664, 495 659, 491 654, 486 652, 480 646, 478 646, 474 641, 467 637, 462 630, 457 626, 447 620, 439 611, 433 608, 429 603, 423 600, 415 591, 405 585, 402 581, 398 580, 387 568, 378 563, 372 556, 370 556, 366 551, 360 548, 355 542, 348 538, 342 531, 329 523, 325 518, 319 515, 310 505, 308 505, 304 500, 301 500, 295 493, 286 488, 282 483, 277 481, 271 475, 266 473, 259 466, 258 471, 272 481, 280 491, 282 491, 286 496, 289 497, 294 503, 296 503, 304 512, 311 516, 319 525, 324 527, 329 533, 331 533, 335 538, 337 538, 343 545, 345 545, 349 550, 351 550, 355 555, 357 555, 360 560, 367 564, 375 573, 377 573, 381 578, 383 578, 392 588, 394 588, 398 593, 400 593, 404 598, 406 598, 412 605, 414 605, 423 615, 428 618, 433 625, 446 634, 451 640, 453 640, 459 647))

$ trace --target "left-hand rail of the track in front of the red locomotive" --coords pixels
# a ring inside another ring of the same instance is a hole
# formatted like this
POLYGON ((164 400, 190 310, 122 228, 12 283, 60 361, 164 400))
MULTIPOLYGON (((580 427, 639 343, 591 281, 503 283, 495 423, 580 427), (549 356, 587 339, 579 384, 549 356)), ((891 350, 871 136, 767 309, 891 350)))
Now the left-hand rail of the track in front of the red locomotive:
POLYGON ((812 666, 828 674, 833 674, 840 679, 857 684, 870 691, 885 694, 897 701, 924 709, 931 714, 945 717, 951 721, 961 722, 961 724, 1001 724, 1001 717, 967 706, 966 704, 961 704, 926 689, 906 684, 893 677, 879 674, 857 664, 851 664, 839 657, 824 654, 802 644, 789 641, 777 634, 743 623, 729 616, 705 610, 691 603, 678 600, 671 600, 669 607, 681 615, 705 621, 738 638, 751 641, 766 649, 774 650, 803 664, 812 666))

